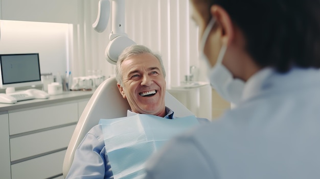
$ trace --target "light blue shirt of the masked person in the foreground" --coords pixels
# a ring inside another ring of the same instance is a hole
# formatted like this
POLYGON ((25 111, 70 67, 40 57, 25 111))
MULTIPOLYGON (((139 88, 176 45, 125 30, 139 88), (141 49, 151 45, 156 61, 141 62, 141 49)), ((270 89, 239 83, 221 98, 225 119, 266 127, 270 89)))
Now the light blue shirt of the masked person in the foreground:
POLYGON ((320 178, 320 71, 266 68, 218 120, 176 137, 146 178, 320 178))

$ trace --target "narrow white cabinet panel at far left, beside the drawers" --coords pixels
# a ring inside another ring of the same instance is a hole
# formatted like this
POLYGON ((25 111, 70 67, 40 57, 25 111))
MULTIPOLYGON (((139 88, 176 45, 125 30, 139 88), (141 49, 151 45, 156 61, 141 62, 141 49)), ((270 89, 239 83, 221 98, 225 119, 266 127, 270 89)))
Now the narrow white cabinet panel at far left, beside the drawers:
POLYGON ((11 178, 8 114, 0 115, 0 143, 0 177, 11 178))

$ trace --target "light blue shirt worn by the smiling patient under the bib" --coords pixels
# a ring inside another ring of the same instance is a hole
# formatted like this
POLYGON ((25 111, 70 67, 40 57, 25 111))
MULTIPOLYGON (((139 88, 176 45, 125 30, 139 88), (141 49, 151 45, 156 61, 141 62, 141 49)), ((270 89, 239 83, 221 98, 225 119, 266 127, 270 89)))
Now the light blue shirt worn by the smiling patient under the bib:
MULTIPOLYGON (((135 114, 137 113, 127 111, 127 116, 135 114)), ((173 114, 173 111, 166 107, 165 118, 175 118, 173 114)), ((209 122, 208 119, 197 119, 199 123, 209 122)), ((66 176, 66 179, 70 178, 113 178, 101 125, 94 126, 76 149, 73 163, 66 176)))

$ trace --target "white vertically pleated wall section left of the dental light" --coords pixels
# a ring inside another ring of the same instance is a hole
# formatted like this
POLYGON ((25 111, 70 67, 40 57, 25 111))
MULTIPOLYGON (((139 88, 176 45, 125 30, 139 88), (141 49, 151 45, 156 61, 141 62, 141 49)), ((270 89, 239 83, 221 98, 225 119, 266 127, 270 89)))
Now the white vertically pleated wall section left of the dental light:
POLYGON ((78 1, 78 24, 73 26, 72 52, 70 52, 70 67, 74 76, 88 75, 88 70, 102 70, 108 77, 115 74, 115 65, 105 60, 104 52, 109 42, 111 25, 103 33, 92 28, 98 13, 99 0, 78 1))

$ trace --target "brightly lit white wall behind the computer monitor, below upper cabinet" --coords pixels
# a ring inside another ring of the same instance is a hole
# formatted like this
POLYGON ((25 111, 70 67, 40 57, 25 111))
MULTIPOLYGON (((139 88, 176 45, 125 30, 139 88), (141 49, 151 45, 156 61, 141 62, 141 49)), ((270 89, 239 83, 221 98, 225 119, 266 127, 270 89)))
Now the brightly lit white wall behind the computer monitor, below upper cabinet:
POLYGON ((68 24, 0 20, 0 54, 39 53, 41 73, 64 73, 68 24))

